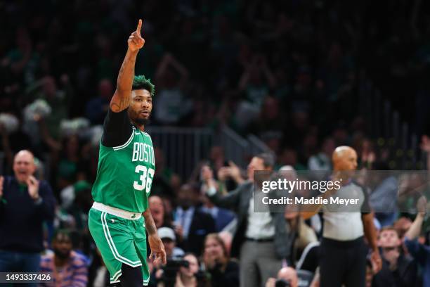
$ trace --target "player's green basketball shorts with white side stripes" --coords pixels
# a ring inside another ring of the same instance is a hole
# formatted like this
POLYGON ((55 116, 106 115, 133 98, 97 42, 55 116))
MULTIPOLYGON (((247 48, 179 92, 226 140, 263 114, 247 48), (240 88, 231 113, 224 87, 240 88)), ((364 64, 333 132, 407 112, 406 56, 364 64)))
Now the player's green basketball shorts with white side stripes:
MULTIPOLYGON (((91 236, 110 273, 110 283, 119 282, 122 264, 127 264, 131 267, 141 266, 143 286, 147 286, 150 274, 146 262, 146 234, 143 217, 139 215, 136 220, 126 219, 123 216, 117 216, 118 213, 115 213, 117 215, 107 213, 106 210, 110 207, 103 206, 105 211, 95 209, 93 205, 89 211, 88 225, 91 236)), ((115 208, 115 210, 117 209, 115 208)))

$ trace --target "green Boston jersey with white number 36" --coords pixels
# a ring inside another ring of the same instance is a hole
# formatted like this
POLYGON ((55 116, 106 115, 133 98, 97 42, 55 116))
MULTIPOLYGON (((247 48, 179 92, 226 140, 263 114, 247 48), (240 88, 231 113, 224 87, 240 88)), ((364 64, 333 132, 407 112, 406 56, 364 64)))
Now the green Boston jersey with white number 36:
MULTIPOLYGON (((110 112, 111 118, 112 113, 110 112)), ((106 125, 107 120, 103 134, 112 134, 113 131, 106 125)), ((122 125, 124 127, 124 122, 122 125)), ((154 147, 149 134, 136 129, 131 123, 128 123, 128 128, 127 124, 125 126, 131 134, 124 144, 105 146, 103 138, 100 142, 97 178, 92 195, 98 203, 141 213, 148 208, 148 196, 154 178, 154 147)), ((123 131, 124 129, 120 129, 117 133, 124 133, 123 131)))

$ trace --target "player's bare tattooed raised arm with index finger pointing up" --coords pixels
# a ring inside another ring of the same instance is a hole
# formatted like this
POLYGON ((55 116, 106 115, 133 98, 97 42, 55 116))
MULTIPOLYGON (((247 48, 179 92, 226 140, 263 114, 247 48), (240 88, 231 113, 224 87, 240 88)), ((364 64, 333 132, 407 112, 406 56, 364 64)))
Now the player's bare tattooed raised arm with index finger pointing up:
POLYGON ((136 64, 136 57, 139 49, 145 44, 145 39, 141 36, 142 20, 139 19, 138 27, 134 31, 127 43, 129 48, 127 49, 126 56, 122 62, 121 69, 119 70, 117 79, 117 89, 115 94, 110 101, 110 109, 119 113, 129 107, 131 101, 131 86, 134 78, 134 65, 136 64))

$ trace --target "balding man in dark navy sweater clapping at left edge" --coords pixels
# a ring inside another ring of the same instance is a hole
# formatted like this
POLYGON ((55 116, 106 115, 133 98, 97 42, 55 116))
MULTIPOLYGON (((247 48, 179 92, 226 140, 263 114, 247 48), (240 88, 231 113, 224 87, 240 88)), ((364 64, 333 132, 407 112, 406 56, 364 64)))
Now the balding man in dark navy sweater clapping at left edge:
POLYGON ((14 176, 0 176, 0 272, 37 272, 44 250, 44 222, 52 221, 56 200, 51 186, 37 180, 34 156, 19 151, 14 176))

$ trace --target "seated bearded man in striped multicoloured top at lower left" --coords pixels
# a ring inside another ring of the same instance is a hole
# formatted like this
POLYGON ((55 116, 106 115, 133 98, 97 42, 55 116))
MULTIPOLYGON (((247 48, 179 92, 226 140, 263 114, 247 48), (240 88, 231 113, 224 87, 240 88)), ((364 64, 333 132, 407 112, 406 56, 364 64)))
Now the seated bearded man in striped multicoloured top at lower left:
POLYGON ((72 250, 72 239, 69 231, 59 229, 53 236, 53 253, 49 252, 41 258, 41 272, 49 272, 53 281, 41 283, 46 287, 86 287, 88 267, 82 255, 72 250))

